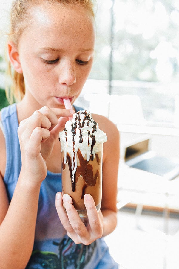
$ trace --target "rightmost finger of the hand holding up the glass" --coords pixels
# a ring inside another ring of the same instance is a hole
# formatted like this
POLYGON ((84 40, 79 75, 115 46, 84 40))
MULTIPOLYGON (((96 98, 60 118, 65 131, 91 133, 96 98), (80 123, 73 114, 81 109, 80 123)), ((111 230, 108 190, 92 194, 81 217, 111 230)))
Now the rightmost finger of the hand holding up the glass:
POLYGON ((91 230, 96 237, 101 237, 103 233, 101 221, 95 202, 90 194, 84 195, 84 204, 87 209, 87 215, 90 223, 91 230))

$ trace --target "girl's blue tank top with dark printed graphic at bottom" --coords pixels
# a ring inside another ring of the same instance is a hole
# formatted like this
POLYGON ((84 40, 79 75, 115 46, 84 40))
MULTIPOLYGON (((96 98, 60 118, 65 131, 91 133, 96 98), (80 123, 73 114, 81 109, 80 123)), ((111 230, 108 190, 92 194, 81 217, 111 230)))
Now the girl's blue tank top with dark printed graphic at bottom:
MULTIPOLYGON (((10 201, 21 170, 16 104, 1 110, 1 121, 6 142, 4 184, 10 201)), ((26 268, 118 268, 102 238, 86 246, 75 244, 66 235, 55 208, 58 191, 61 191, 61 173, 47 171, 40 188, 33 253, 26 268)))

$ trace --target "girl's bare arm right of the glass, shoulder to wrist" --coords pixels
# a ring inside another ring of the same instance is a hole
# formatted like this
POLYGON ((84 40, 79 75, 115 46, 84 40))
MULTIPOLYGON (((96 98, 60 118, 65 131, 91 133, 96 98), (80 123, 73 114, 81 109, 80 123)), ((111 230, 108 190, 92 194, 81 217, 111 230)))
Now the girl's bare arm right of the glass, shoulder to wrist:
MULTIPOLYGON (((98 116, 100 117, 100 116, 98 116)), ((98 119, 96 119, 98 120, 98 119)), ((110 234, 117 224, 117 180, 119 165, 119 131, 111 121, 100 117, 99 127, 107 134, 103 154, 103 189, 101 212, 103 213, 103 236, 110 234), (101 125, 100 125, 101 124, 101 125)))

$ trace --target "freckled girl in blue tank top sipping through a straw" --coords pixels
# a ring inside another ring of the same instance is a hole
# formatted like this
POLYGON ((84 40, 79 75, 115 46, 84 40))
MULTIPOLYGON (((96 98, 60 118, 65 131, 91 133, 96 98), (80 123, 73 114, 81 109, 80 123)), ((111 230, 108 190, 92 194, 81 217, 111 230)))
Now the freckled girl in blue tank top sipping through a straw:
POLYGON ((108 137, 101 210, 84 196, 86 227, 61 194, 58 133, 80 109, 63 99, 79 96, 94 45, 91 0, 13 1, 8 55, 19 101, 0 114, 0 268, 118 268, 102 239, 117 212, 119 133, 107 118, 92 115, 108 137))

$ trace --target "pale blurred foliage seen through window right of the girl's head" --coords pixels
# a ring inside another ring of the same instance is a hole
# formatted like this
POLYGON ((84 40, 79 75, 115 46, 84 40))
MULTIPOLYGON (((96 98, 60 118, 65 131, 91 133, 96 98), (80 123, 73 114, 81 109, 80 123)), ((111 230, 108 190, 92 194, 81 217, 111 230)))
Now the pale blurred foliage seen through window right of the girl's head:
POLYGON ((179 79, 178 0, 98 0, 97 57, 90 78, 174 82, 179 79), (113 40, 111 6, 113 8, 113 40))

